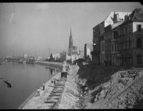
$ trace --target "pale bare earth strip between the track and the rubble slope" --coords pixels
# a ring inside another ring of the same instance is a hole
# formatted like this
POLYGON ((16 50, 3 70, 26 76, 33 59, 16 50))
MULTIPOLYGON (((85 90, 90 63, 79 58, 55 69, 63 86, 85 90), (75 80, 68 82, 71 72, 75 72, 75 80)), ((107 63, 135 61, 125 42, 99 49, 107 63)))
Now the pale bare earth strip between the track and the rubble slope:
POLYGON ((79 67, 76 65, 70 66, 61 102, 57 109, 80 109, 78 102, 80 100, 81 90, 75 79, 78 69, 79 67))

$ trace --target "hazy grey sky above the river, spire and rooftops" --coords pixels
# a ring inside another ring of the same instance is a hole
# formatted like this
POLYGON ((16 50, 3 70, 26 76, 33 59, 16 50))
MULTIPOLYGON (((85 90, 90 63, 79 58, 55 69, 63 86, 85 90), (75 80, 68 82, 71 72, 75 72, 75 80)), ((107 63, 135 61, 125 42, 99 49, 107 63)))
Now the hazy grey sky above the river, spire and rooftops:
POLYGON ((93 27, 110 12, 132 12, 139 2, 0 3, 0 57, 49 56, 73 45, 84 51, 92 43, 93 27))

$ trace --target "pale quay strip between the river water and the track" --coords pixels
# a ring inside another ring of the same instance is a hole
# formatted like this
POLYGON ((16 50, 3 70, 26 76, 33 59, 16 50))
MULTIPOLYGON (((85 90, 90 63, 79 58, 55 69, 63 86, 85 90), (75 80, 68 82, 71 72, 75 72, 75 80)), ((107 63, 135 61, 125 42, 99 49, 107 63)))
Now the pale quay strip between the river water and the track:
POLYGON ((26 99, 26 101, 18 109, 45 109, 46 105, 44 104, 44 100, 49 96, 49 94, 54 88, 51 80, 59 79, 60 76, 61 76, 61 73, 58 73, 53 78, 51 78, 48 82, 44 83, 43 84, 45 87, 44 90, 43 90, 43 86, 41 86, 34 93, 32 93, 32 95, 29 96, 28 99, 26 99))

